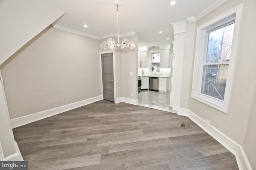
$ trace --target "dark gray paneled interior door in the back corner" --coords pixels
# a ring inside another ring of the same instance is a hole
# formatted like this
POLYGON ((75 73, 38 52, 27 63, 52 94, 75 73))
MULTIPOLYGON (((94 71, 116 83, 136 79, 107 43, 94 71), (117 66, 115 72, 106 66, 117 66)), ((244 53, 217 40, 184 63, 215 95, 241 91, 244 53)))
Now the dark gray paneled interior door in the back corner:
POLYGON ((113 53, 102 54, 101 64, 102 64, 103 99, 115 102, 113 53))

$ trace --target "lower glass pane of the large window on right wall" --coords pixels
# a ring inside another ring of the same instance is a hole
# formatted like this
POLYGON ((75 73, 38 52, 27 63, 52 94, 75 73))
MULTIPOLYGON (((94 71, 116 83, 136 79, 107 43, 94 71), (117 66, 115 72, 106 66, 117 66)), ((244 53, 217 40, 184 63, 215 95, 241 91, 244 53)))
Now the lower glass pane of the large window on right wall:
POLYGON ((228 75, 228 64, 204 65, 201 93, 223 100, 228 75))

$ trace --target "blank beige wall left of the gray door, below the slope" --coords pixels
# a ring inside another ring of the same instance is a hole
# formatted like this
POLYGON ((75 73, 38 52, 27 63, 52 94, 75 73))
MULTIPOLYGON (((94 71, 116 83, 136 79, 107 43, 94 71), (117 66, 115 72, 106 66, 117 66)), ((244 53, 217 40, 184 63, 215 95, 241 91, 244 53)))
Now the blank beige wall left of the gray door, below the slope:
POLYGON ((0 68, 10 118, 101 94, 99 40, 47 27, 0 68))

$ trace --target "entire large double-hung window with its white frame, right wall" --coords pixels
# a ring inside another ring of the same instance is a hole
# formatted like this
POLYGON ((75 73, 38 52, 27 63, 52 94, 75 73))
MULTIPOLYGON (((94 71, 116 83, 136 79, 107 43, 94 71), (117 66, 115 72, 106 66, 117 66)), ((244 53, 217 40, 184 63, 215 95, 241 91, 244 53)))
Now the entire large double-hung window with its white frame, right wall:
POLYGON ((242 4, 197 29, 192 98, 227 112, 242 4))

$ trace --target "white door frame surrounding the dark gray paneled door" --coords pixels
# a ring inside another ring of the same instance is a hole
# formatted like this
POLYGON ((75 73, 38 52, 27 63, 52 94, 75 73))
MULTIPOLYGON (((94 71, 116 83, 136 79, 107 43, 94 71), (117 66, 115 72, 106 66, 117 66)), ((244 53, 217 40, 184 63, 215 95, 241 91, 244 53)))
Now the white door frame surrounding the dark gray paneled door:
POLYGON ((100 76, 101 76, 101 94, 103 98, 103 80, 102 80, 102 62, 101 62, 101 55, 106 53, 112 53, 113 54, 113 76, 114 76, 114 101, 116 103, 116 54, 115 51, 101 51, 100 52, 100 76))

